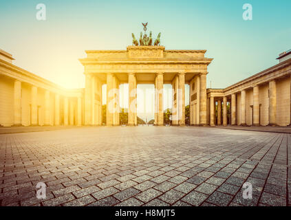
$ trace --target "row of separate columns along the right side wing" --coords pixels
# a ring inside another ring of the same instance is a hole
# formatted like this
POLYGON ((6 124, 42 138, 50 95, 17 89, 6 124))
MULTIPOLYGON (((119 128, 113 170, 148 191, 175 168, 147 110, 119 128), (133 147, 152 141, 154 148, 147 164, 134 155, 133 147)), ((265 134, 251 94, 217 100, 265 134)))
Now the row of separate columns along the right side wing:
MULTIPOLYGON (((252 125, 259 126, 260 125, 260 111, 259 111, 259 85, 255 85, 252 87, 253 92, 253 104, 252 104, 252 125)), ((242 126, 246 125, 246 89, 240 91, 241 94, 241 103, 240 106, 237 106, 237 93, 231 94, 230 100, 230 124, 237 124, 237 108, 240 108, 240 124, 242 126)), ((276 90, 276 81, 271 80, 269 82, 269 124, 268 125, 277 125, 277 90, 276 90)), ((210 106, 210 125, 215 125, 215 100, 214 97, 210 98, 211 106, 210 106)), ((217 125, 221 125, 221 115, 222 115, 222 102, 221 99, 217 100, 217 125)), ((223 125, 227 125, 227 97, 223 97, 223 125)))

